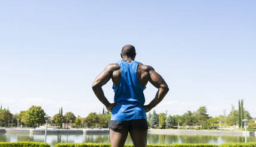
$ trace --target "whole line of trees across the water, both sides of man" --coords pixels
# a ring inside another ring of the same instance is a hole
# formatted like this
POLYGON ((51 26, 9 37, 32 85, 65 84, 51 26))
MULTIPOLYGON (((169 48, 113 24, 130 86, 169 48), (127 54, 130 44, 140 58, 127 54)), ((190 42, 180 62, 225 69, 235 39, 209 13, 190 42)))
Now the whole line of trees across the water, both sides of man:
MULTIPOLYGON (((212 129, 221 126, 234 126, 244 127, 243 119, 251 120, 249 127, 256 127, 252 117, 247 110, 243 107, 243 100, 239 100, 238 110, 235 106, 231 106, 232 110, 228 115, 224 110, 223 115, 209 116, 206 106, 199 107, 196 111, 187 111, 182 115, 168 115, 166 113, 157 114, 155 110, 147 114, 147 122, 149 127, 152 128, 190 128, 190 129, 212 129)), ((36 127, 45 123, 45 112, 40 106, 32 106, 26 111, 20 111, 18 114, 11 114, 7 109, 0 108, 0 126, 17 126, 17 123, 27 127, 36 127)), ((102 113, 92 112, 87 117, 75 116, 72 112, 63 114, 63 108, 58 110, 49 121, 52 126, 63 127, 63 123, 71 124, 72 127, 108 127, 111 118, 111 113, 105 111, 103 108, 102 113)))

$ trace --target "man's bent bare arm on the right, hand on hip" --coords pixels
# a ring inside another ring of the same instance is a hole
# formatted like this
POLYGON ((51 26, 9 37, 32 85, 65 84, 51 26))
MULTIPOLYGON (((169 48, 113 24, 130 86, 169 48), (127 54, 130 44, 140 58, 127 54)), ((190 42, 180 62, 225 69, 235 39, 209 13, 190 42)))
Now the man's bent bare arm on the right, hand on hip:
POLYGON ((147 71, 149 72, 149 82, 158 88, 158 92, 156 92, 155 98, 148 105, 143 106, 148 112, 163 100, 169 91, 169 88, 162 76, 159 75, 159 73, 157 73, 151 66, 148 66, 147 71))

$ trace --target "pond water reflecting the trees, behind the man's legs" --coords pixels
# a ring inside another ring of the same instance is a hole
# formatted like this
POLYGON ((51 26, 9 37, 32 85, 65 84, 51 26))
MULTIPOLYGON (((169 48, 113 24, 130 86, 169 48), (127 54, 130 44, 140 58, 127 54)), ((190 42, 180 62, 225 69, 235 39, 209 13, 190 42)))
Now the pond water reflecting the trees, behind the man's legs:
MULTIPOLYGON (((29 133, 0 133, 0 142, 21 142, 21 141, 35 141, 44 142, 44 134, 29 134, 29 133)), ((109 142, 108 133, 93 133, 93 134, 48 134, 47 142, 55 145, 60 142, 109 142)), ((227 135, 148 135, 148 143, 214 143, 221 144, 225 142, 245 142, 244 136, 227 136, 227 135)), ((256 137, 248 137, 248 142, 256 142, 256 137)), ((131 137, 128 135, 127 142, 132 143, 131 137)))

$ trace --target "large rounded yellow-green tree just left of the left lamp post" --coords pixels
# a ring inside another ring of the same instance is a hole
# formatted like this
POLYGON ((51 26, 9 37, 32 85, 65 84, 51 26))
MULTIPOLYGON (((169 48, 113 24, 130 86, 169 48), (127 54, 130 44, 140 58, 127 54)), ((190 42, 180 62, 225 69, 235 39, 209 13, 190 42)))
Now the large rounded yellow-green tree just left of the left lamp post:
POLYGON ((31 106, 26 112, 25 123, 35 127, 35 124, 45 123, 45 112, 40 106, 31 106))

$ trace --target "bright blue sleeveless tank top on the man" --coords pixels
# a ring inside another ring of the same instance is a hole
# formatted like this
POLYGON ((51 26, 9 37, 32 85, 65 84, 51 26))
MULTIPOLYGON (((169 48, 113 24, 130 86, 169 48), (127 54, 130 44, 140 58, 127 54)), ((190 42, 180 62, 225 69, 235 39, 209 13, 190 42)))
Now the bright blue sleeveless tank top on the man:
POLYGON ((118 61, 121 80, 118 85, 113 84, 113 90, 115 92, 114 101, 119 104, 113 107, 111 120, 147 119, 146 110, 140 106, 145 103, 143 91, 146 87, 138 81, 138 63, 137 61, 131 63, 118 61))

